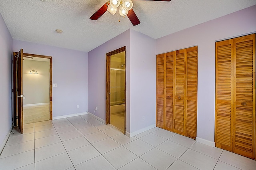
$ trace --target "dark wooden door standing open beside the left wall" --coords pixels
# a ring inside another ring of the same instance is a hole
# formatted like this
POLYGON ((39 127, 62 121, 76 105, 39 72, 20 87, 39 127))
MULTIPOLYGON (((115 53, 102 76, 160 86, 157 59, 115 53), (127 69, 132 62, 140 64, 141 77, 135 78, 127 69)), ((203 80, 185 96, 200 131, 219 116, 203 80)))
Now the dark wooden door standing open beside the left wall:
POLYGON ((23 133, 23 49, 13 55, 14 126, 23 133))

